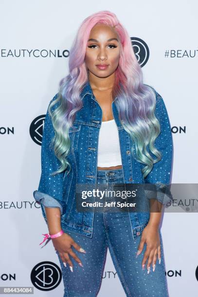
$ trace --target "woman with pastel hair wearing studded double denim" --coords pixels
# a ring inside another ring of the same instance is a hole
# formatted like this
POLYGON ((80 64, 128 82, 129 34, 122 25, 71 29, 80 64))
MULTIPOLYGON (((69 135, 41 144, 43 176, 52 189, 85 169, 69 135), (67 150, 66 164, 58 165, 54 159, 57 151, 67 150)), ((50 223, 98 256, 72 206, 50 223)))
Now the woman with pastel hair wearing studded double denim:
MULTIPOLYGON (((109 197, 87 212, 75 204, 77 185, 170 182, 172 135, 163 99, 143 83, 126 29, 109 11, 83 21, 69 69, 46 114, 34 192, 60 260, 64 296, 97 295, 107 247, 126 296, 168 296, 160 211, 109 211, 109 197)), ((147 194, 162 206, 162 196, 147 194)))

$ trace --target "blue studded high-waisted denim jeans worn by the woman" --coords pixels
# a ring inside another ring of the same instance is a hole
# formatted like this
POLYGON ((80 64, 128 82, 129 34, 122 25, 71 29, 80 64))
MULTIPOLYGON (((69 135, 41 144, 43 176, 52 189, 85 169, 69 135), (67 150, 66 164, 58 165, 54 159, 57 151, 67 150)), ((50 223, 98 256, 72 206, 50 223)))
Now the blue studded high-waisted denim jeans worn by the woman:
MULTIPOLYGON (((106 184, 107 189, 108 184, 124 183, 122 168, 98 170, 97 185, 99 186, 101 183, 106 184)), ((105 199, 110 201, 112 198, 107 197, 105 199)), ((133 239, 128 212, 108 212, 107 210, 95 212, 92 238, 74 232, 67 232, 67 234, 87 253, 81 253, 72 247, 83 264, 83 267, 79 266, 69 255, 73 264, 72 272, 69 264, 67 263, 65 267, 58 252, 56 252, 62 270, 64 297, 97 296, 102 281, 107 248, 109 248, 126 296, 168 297, 161 232, 161 264, 157 260, 154 272, 151 264, 149 274, 147 274, 146 266, 142 270, 141 265, 146 245, 144 245, 142 253, 136 258, 141 236, 133 239)))

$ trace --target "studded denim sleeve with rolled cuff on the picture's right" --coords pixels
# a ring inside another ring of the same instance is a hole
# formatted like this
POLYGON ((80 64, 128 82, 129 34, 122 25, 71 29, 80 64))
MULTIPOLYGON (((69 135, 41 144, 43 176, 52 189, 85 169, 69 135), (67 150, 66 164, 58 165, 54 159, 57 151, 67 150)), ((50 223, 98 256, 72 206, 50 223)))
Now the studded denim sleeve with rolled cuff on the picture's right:
MULTIPOLYGON (((170 180, 172 170, 173 139, 168 113, 162 97, 156 93, 155 115, 160 122, 161 131, 154 145, 161 151, 162 159, 153 164, 150 173, 145 177, 145 183, 151 183, 146 190, 146 197, 155 198, 163 204, 169 203, 172 198, 170 192, 170 180)), ((148 149, 152 158, 156 158, 148 149)))

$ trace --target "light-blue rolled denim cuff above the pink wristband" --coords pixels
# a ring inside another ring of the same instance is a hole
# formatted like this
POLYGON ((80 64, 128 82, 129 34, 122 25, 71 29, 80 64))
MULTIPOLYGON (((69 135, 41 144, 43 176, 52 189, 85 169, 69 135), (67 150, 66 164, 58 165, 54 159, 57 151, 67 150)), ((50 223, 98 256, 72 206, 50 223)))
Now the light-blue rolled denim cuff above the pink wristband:
MULTIPOLYGON (((45 207, 50 207, 50 208, 54 208, 54 207, 58 207, 60 208, 60 214, 63 214, 63 208, 62 205, 58 202, 58 200, 56 200, 55 198, 53 198, 52 196, 42 193, 40 191, 34 191, 33 196, 35 198, 35 200, 37 202, 42 203, 43 206, 45 207)), ((46 218, 46 211, 45 211, 45 207, 43 207, 43 211, 44 211, 44 217, 46 218)))

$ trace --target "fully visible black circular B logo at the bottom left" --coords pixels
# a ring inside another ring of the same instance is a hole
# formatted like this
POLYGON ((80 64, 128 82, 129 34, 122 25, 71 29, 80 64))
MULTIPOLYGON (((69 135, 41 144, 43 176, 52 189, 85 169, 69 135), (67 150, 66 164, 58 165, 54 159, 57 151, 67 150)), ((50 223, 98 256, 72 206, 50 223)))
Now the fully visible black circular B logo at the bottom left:
POLYGON ((33 285, 41 291, 54 290, 61 280, 61 269, 53 262, 40 262, 32 269, 31 272, 31 281, 33 285))

